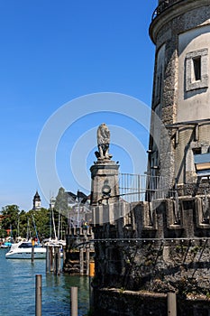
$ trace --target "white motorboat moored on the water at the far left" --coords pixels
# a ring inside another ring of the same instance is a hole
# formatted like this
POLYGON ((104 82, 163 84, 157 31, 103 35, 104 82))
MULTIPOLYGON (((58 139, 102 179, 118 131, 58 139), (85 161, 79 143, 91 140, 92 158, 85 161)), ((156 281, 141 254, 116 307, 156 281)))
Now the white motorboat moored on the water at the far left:
MULTIPOLYGON (((5 254, 6 259, 32 259, 32 243, 22 241, 11 246, 10 251, 5 254)), ((34 259, 45 259, 46 248, 34 246, 34 259)))

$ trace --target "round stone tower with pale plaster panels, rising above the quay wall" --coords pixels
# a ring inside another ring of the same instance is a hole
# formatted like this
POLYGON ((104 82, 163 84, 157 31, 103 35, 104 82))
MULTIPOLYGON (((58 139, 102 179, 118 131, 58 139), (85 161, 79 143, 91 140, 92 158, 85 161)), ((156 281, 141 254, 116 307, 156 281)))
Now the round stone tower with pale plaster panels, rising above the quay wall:
POLYGON ((160 0, 150 36, 156 45, 151 129, 158 136, 150 140, 149 171, 166 177, 178 195, 209 193, 209 0, 160 0))

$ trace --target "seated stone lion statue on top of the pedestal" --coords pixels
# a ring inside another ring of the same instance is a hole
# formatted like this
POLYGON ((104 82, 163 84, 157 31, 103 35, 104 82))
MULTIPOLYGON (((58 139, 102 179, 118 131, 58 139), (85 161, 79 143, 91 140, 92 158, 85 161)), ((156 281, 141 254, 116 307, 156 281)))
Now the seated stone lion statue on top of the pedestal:
POLYGON ((97 128, 97 147, 96 157, 99 160, 111 159, 112 155, 109 154, 110 144, 110 131, 105 123, 101 124, 97 128))

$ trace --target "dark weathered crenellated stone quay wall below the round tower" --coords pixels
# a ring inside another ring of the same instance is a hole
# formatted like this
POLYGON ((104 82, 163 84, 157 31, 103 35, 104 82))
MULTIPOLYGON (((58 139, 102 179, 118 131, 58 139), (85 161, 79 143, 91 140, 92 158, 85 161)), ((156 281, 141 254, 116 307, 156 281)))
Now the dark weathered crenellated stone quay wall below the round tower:
POLYGON ((177 293, 179 316, 209 315, 209 199, 124 202, 124 208, 120 201, 120 212, 119 203, 93 209, 95 217, 99 212, 99 218, 115 218, 93 228, 96 311, 101 315, 103 311, 109 315, 166 315, 165 297, 177 293), (116 219, 117 214, 122 217, 116 219), (151 296, 145 298, 144 293, 151 296), (119 313, 122 306, 127 310, 119 313))

